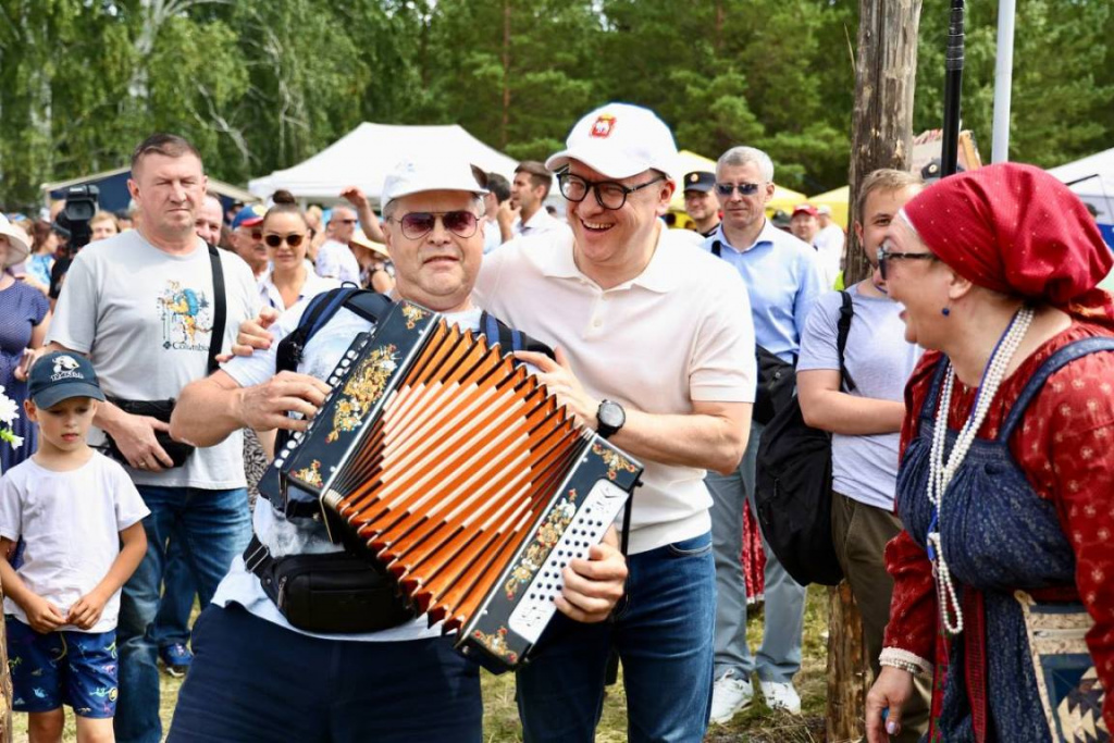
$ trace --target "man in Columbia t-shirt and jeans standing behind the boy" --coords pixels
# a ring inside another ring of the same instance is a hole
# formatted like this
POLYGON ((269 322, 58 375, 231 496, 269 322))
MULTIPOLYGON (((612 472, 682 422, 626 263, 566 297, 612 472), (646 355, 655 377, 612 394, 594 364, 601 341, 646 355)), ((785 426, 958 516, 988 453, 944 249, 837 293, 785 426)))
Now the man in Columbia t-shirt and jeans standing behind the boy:
POLYGON ((92 361, 109 402, 98 408, 90 442, 101 444, 105 433, 111 436, 152 511, 144 519, 147 556, 120 600, 115 729, 124 743, 162 737, 156 647, 148 627, 160 600, 167 545, 180 542, 198 594, 207 602, 251 537, 238 432, 193 451, 175 467, 165 447, 177 447, 156 438, 165 437, 169 424, 117 404, 178 398, 182 388, 208 373, 211 346, 231 348, 240 323, 257 312, 258 293, 247 265, 224 251, 214 264, 195 232, 205 185, 201 155, 188 141, 165 134, 144 140, 133 155, 128 180, 139 226, 78 253, 47 335, 52 350, 92 361), (215 289, 217 277, 223 296, 215 289), (221 305, 224 332, 214 338, 221 305))

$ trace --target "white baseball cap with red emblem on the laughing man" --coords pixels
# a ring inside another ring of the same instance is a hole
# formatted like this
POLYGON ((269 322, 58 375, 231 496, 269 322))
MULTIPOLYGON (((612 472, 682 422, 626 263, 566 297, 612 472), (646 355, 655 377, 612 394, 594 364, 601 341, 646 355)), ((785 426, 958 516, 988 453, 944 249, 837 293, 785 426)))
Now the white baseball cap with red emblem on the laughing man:
POLYGON ((546 167, 557 172, 579 160, 609 178, 629 178, 651 168, 676 180, 677 145, 665 121, 648 108, 607 104, 573 127, 565 149, 551 155, 546 167))

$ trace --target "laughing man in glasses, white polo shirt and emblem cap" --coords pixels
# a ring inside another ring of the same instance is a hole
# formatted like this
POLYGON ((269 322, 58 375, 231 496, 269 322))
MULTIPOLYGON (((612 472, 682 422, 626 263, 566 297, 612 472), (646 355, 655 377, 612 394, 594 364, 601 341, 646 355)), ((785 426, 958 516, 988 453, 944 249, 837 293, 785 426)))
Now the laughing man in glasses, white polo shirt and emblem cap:
POLYGON ((548 159, 571 232, 485 256, 477 300, 558 349, 521 354, 569 410, 646 466, 610 623, 550 624, 518 674, 524 736, 592 741, 607 657, 623 661, 631 740, 698 741, 712 690, 715 568, 706 469, 733 471, 754 400, 754 331, 735 272, 657 218, 676 146, 652 111, 609 104, 548 159))

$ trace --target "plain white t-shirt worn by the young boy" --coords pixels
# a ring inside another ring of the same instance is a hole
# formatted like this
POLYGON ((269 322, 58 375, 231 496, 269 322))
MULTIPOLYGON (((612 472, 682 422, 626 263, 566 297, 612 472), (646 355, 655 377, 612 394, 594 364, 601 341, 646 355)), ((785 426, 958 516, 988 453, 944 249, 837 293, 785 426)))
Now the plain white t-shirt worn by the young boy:
MULTIPOLYGON (((16 573, 27 587, 65 614, 97 587, 120 554, 119 532, 150 514, 127 472, 99 452, 76 470, 56 472, 33 459, 0 480, 0 537, 27 542, 16 573)), ((4 598, 6 614, 28 624, 27 614, 4 598)), ((105 604, 89 629, 116 628, 120 592, 105 604)))

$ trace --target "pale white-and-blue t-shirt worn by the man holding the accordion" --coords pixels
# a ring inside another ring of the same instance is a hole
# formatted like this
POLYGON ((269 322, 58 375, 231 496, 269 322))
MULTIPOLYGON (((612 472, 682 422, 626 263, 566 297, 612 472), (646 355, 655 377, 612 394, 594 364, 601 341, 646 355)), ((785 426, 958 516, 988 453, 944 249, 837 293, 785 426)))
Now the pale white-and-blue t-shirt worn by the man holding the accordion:
MULTIPOLYGON (((278 322, 271 327, 274 334, 274 342, 267 351, 256 351, 253 355, 237 356, 224 364, 223 369, 241 387, 262 384, 275 374, 278 342, 291 331, 297 327, 309 302, 300 302, 287 310, 278 319, 278 322)), ((447 314, 450 322, 456 322, 461 327, 479 330, 480 311, 472 310, 456 314, 447 314)), ((313 334, 310 342, 305 344, 302 354, 302 363, 297 371, 303 374, 311 374, 317 379, 325 380, 332 373, 341 355, 352 344, 358 333, 371 330, 369 321, 360 315, 341 309, 330 321, 313 334)), ((312 519, 287 520, 277 516, 267 500, 261 499, 252 515, 252 526, 255 536, 267 547, 271 555, 282 557, 284 555, 305 555, 313 553, 334 553, 342 547, 333 545, 329 540, 323 524, 312 519)), ((258 578, 248 573, 244 567, 244 558, 237 556, 232 561, 228 575, 221 581, 213 603, 218 606, 227 606, 231 603, 240 604, 245 609, 257 617, 273 622, 286 629, 297 632, 303 635, 314 637, 325 637, 330 639, 367 641, 367 642, 394 642, 418 639, 422 637, 440 636, 440 627, 429 628, 428 618, 419 616, 417 619, 403 624, 393 629, 365 634, 343 634, 343 635, 321 635, 306 633, 297 629, 278 612, 274 603, 263 593, 258 578)))

